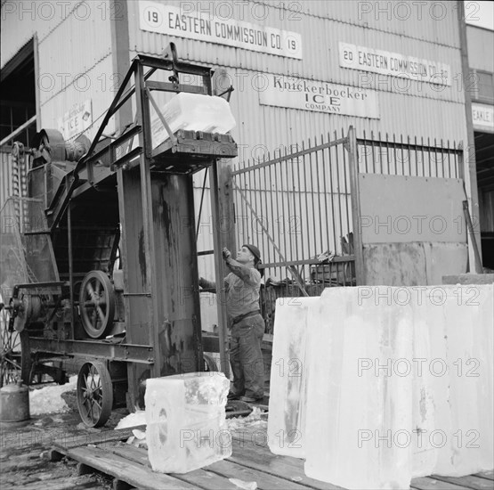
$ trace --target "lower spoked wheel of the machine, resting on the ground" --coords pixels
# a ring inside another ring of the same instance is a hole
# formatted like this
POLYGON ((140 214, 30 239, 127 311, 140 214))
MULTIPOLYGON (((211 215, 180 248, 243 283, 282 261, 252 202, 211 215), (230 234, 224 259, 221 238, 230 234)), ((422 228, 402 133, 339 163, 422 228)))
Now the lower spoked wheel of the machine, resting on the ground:
POLYGON ((108 421, 113 406, 113 386, 104 363, 82 365, 77 376, 77 408, 87 427, 101 427, 108 421))

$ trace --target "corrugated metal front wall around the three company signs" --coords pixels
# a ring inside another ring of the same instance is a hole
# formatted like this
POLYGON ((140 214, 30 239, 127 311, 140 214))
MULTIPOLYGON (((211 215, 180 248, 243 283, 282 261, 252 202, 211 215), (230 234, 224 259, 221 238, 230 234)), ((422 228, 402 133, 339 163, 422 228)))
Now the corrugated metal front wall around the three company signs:
MULTIPOLYGON (((181 4, 178 1, 162 3, 177 7, 181 4)), ((198 4, 201 3, 193 3, 192 6, 196 5, 195 8, 198 8, 198 4)), ((207 12, 210 4, 202 3, 201 8, 207 12)), ((136 53, 161 53, 167 43, 173 40, 180 58, 227 69, 235 87, 231 96, 231 108, 238 121, 238 127, 233 130, 232 135, 237 142, 244 145, 246 158, 252 156, 253 149, 259 151, 256 148, 259 144, 272 151, 279 145, 300 143, 314 135, 350 125, 356 127, 357 135, 361 135, 365 129, 368 133, 372 130, 438 140, 465 140, 466 118, 464 96, 459 89, 461 63, 455 4, 442 4, 447 9, 443 20, 433 20, 424 11, 422 20, 412 16, 407 21, 390 21, 385 13, 376 15, 376 12, 367 16, 362 14, 359 20, 359 4, 361 3, 309 1, 293 3, 293 8, 300 12, 290 12, 267 4, 265 20, 259 20, 260 15, 264 17, 262 10, 255 11, 249 7, 243 9, 242 20, 300 33, 303 60, 299 61, 182 37, 168 39, 166 36, 141 30, 139 3, 131 2, 130 46, 134 50, 131 57, 136 53), (368 74, 370 77, 366 78, 368 82, 365 87, 378 90, 379 119, 329 115, 259 103, 259 92, 253 88, 253 81, 259 72, 360 86, 359 70, 339 66, 338 42, 449 64, 453 74, 452 85, 440 86, 438 89, 422 82, 368 74)), ((377 9, 378 3, 363 4, 377 9)), ((393 3, 382 4, 381 9, 385 8, 385 4, 393 3)), ((427 3, 427 9, 430 4, 433 3, 427 3)), ((285 5, 289 6, 290 3, 285 5)), ((417 5, 413 8, 417 8, 417 5)), ((439 10, 437 13, 439 16, 439 10)))

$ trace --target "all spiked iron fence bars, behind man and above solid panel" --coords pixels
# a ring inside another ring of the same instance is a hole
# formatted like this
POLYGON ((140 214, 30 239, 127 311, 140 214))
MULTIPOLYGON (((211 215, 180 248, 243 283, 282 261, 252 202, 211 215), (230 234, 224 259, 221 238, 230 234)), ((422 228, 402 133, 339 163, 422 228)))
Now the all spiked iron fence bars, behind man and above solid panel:
POLYGON ((266 152, 233 170, 236 241, 261 249, 267 332, 277 298, 356 285, 360 229, 354 229, 352 216, 352 176, 357 173, 462 178, 463 149, 456 142, 402 135, 363 132, 356 138, 351 128, 346 135, 342 129, 341 135, 335 131, 266 152))

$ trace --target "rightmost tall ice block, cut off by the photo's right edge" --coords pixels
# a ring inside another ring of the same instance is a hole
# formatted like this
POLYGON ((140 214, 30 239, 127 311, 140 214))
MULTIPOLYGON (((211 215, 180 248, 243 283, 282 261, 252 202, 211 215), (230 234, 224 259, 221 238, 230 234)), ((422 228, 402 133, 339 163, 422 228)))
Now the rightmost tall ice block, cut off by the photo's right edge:
POLYGON ((440 475, 460 477, 493 467, 493 288, 429 288, 425 306, 417 306, 433 346, 429 371, 436 417, 433 437, 426 436, 437 450, 433 472, 440 475))

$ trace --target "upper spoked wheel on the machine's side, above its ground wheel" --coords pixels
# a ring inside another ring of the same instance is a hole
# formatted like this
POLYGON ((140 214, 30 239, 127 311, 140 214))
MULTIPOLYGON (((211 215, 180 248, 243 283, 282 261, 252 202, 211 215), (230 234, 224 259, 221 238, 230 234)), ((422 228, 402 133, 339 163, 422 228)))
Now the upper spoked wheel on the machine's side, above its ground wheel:
POLYGON ((115 296, 107 274, 102 271, 86 274, 79 291, 79 308, 87 335, 100 339, 115 315, 115 296))

